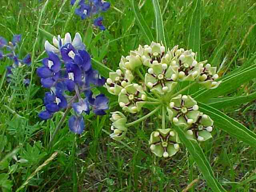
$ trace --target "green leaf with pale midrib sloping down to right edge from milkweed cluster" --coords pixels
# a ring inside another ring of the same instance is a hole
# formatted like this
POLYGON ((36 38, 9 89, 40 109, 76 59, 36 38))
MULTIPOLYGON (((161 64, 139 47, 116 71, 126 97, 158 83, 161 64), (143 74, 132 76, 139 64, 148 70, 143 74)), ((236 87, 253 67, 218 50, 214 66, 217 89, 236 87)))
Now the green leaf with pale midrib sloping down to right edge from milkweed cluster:
POLYGON ((256 134, 254 132, 211 106, 200 102, 198 102, 198 105, 201 112, 209 115, 212 120, 214 120, 215 126, 238 138, 242 142, 256 147, 256 134))

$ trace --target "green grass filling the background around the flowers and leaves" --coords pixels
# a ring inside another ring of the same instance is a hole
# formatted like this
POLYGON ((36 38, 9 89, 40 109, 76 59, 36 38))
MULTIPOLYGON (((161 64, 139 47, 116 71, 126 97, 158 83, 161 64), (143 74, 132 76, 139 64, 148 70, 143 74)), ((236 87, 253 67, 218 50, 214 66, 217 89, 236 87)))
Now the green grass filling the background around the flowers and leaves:
MULTIPOLYGON (((109 1, 112 8, 104 13, 104 24, 108 28, 105 32, 88 28, 89 20, 82 21, 70 14, 69 2, 13 0, 0 5, 0 36, 11 40, 12 34, 22 34, 19 55, 31 52, 34 61, 32 67, 19 69, 14 74, 15 86, 5 83, 5 68, 11 62, 0 62, 3 82, 0 90, 0 184, 4 180, 2 173, 8 173, 9 181, 6 179, 5 184, 12 183, 12 191, 210 192, 184 147, 167 159, 156 158, 150 152, 149 135, 161 126, 158 116, 130 127, 128 138, 123 142, 116 142, 107 134, 110 132, 109 113, 103 117, 86 116, 86 130, 81 136, 70 133, 65 121, 52 148, 47 148, 63 113, 57 113, 47 122, 40 122, 37 116, 46 90, 41 88, 34 70, 44 57, 44 41, 51 40, 51 34, 70 32, 74 36, 75 32, 80 32, 93 58, 112 70, 118 67, 122 55, 145 44, 130 1, 109 1), (32 80, 28 88, 21 83, 24 75, 32 80), (16 156, 3 159, 10 152, 13 152, 10 157, 16 156), (188 186, 191 188, 186 190, 188 186)), ((167 46, 172 48, 179 44, 188 48, 195 2, 167 0, 160 1, 160 6, 167 46)), ((152 2, 141 0, 140 7, 156 37, 152 2)), ((254 0, 202 2, 201 60, 208 59, 218 66, 220 75, 242 66, 256 54, 255 23, 254 0)), ((255 88, 255 80, 252 80, 229 96, 245 96, 255 88)), ((110 112, 119 110, 115 99, 110 102, 110 112)), ((255 102, 223 109, 254 132, 255 110, 255 102)), ((138 116, 132 116, 130 121, 138 116)), ((228 191, 256 191, 254 148, 218 129, 214 130, 213 139, 202 143, 201 147, 216 178, 228 191)))

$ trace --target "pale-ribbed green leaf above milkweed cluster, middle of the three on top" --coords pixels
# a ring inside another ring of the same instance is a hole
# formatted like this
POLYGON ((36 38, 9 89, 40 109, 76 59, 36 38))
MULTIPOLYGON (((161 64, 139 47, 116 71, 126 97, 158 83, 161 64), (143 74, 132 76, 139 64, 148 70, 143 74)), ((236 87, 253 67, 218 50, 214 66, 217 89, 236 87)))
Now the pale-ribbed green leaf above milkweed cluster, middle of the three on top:
POLYGON ((166 46, 165 35, 164 35, 164 24, 161 13, 161 8, 158 0, 152 0, 154 13, 155 13, 155 22, 156 22, 156 40, 158 42, 163 42, 164 46, 166 46))

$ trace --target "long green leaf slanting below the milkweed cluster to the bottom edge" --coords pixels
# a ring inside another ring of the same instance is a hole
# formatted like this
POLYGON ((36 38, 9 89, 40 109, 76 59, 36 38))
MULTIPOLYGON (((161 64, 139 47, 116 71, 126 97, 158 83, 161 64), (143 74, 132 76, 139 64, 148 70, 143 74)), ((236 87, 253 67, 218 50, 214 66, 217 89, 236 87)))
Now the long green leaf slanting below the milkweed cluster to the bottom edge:
POLYGON ((199 170, 202 172, 207 185, 210 186, 214 192, 226 192, 218 180, 216 180, 210 163, 206 159, 204 152, 198 143, 194 140, 188 140, 184 131, 180 127, 175 126, 174 129, 178 133, 180 141, 186 146, 188 152, 194 158, 194 161, 196 162, 199 170))

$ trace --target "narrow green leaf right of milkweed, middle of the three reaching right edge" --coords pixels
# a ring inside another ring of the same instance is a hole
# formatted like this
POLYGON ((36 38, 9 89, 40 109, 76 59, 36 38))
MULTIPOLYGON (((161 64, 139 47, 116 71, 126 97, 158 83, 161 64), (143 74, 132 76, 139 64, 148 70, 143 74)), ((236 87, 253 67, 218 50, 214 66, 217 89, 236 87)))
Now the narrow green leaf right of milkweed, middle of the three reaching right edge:
POLYGON ((247 96, 212 98, 206 104, 216 109, 230 108, 256 100, 256 92, 247 96))

